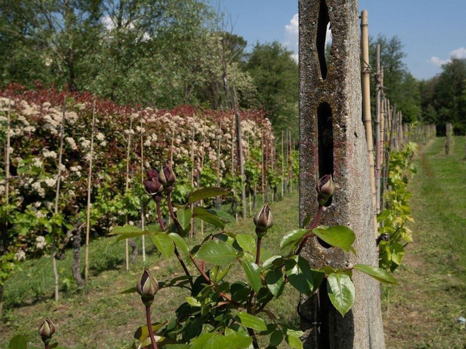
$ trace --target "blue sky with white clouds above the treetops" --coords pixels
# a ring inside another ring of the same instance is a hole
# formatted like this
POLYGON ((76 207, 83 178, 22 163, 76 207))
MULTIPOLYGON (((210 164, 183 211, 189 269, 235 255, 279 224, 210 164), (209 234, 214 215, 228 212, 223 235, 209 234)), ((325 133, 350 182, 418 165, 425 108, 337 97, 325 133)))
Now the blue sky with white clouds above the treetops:
MULTIPOLYGON (((438 74, 451 56, 466 58, 466 0, 360 0, 359 7, 369 13, 370 35, 401 39, 404 61, 419 79, 438 74)), ((234 33, 249 47, 278 40, 297 52, 297 0, 221 0, 220 9, 231 13, 234 33)))

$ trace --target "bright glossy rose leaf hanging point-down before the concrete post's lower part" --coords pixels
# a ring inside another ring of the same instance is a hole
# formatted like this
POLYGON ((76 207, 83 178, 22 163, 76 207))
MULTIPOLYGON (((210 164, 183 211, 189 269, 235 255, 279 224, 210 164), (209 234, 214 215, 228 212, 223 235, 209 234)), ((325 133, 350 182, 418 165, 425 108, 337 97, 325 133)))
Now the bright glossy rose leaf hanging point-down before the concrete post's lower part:
POLYGON ((344 273, 332 273, 327 279, 327 292, 336 310, 344 316, 354 304, 354 284, 344 273))

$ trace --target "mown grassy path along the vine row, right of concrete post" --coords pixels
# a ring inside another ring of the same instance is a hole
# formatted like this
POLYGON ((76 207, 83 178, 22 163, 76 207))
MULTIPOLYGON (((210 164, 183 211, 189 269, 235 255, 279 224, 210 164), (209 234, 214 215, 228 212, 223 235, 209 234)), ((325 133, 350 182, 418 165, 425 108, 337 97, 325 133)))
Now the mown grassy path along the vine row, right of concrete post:
POLYGON ((414 242, 397 272, 403 288, 384 289, 387 348, 466 348, 465 137, 420 149, 410 183, 414 242), (388 301, 387 301, 387 296, 388 301))

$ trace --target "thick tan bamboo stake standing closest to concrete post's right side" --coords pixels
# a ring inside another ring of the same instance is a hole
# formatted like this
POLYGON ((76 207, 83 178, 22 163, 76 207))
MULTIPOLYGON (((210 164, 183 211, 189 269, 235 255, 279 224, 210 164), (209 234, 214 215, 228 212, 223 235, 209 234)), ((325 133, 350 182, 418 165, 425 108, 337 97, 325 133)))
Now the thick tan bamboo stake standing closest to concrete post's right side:
MULTIPOLYGON (((376 211, 376 183, 374 166, 374 147, 372 139, 372 120, 370 117, 370 67, 369 67, 369 37, 367 11, 361 13, 361 50, 363 53, 363 120, 366 130, 367 153, 370 167, 370 189, 372 193, 372 208, 376 211)), ((377 224, 377 223, 376 223, 377 224)))

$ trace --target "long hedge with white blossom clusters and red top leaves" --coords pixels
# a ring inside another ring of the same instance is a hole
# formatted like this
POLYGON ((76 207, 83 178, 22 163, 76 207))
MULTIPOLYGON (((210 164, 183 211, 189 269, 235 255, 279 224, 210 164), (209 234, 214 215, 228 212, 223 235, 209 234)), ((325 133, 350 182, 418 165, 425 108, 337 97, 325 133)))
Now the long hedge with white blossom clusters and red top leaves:
MULTIPOLYGON (((2 242, 3 255, 9 251, 17 260, 27 255, 40 255, 50 242, 48 233, 53 224, 61 226, 65 234, 67 229, 85 221, 94 101, 91 197, 94 234, 105 234, 111 226, 122 223, 126 215, 132 221, 140 217, 139 197, 144 197, 141 195, 144 176, 141 173, 141 143, 144 171, 159 169, 173 159, 173 169, 181 179, 177 186, 180 197, 192 190, 192 168, 194 187, 198 181, 201 186, 220 181, 223 187, 235 189, 238 159, 234 154, 232 163, 236 135, 231 111, 197 110, 188 106, 172 110, 118 106, 86 93, 41 88, 23 91, 18 86, 10 86, 0 91, 0 138, 4 143, 8 110, 11 115, 8 206, 5 156, 1 159, 0 169, 1 219, 3 225, 5 218, 8 224, 8 236, 2 242), (57 216, 53 214, 53 202, 65 95, 60 215, 57 216), (125 193, 129 138, 130 190, 125 193)), ((262 111, 242 111, 241 128, 246 160, 249 166, 254 162, 259 169, 256 172, 260 174, 262 161, 257 149, 273 148, 271 124, 262 111)))

